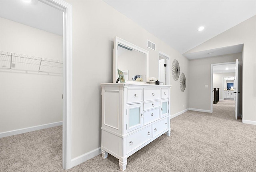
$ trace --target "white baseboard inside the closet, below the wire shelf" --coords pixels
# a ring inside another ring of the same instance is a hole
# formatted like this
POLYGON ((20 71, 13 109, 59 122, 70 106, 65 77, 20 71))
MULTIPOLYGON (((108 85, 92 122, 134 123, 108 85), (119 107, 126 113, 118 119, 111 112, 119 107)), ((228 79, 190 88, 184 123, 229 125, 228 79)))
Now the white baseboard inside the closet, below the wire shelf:
POLYGON ((22 134, 22 133, 26 133, 26 132, 31 132, 31 131, 36 131, 36 130, 41 130, 41 129, 44 129, 44 128, 60 126, 60 125, 62 125, 62 121, 53 122, 53 123, 50 123, 50 124, 43 124, 43 125, 39 125, 39 126, 32 126, 32 127, 28 127, 28 128, 21 128, 21 129, 18 129, 18 130, 12 130, 12 131, 7 131, 7 132, 1 132, 0 133, 0 138, 7 137, 7 136, 13 136, 13 135, 16 135, 16 134, 22 134))

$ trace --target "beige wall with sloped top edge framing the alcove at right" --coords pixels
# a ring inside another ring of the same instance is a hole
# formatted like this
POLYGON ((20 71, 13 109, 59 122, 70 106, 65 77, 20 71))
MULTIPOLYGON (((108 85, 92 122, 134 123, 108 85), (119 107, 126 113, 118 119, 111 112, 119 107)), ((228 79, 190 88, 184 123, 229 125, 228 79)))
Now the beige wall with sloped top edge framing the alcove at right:
MULTIPOLYGON (((186 53, 238 44, 244 44, 242 55, 242 116, 244 120, 256 122, 256 89, 251 89, 252 85, 256 85, 256 16, 230 28, 186 53)), ((210 69, 209 66, 207 68, 210 69)), ((191 105, 198 106, 193 103, 191 105)), ((206 104, 199 107, 209 108, 206 104)))

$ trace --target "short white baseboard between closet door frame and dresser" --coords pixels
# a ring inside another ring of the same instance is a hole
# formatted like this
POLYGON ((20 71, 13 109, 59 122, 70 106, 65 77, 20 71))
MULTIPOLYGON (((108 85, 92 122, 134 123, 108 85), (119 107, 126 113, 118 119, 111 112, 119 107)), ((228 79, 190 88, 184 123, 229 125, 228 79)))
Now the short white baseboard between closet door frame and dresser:
POLYGON ((78 164, 81 164, 83 162, 86 162, 87 160, 90 160, 92 158, 94 158, 95 156, 98 156, 99 154, 101 154, 101 148, 96 148, 90 152, 87 152, 85 154, 82 154, 76 158, 73 158, 71 160, 71 167, 77 166, 78 164))

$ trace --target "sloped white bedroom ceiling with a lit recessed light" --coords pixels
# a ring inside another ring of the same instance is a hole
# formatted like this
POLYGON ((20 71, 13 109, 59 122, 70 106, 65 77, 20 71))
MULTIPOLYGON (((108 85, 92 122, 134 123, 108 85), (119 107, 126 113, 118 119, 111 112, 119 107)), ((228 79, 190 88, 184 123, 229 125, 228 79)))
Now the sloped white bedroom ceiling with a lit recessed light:
POLYGON ((104 1, 181 54, 256 15, 255 0, 104 1))

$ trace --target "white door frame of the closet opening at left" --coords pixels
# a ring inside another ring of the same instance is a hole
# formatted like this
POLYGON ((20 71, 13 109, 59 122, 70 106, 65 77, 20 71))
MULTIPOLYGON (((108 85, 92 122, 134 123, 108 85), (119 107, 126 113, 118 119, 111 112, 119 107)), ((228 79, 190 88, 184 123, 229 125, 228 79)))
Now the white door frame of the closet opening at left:
POLYGON ((71 168, 72 120, 72 5, 63 0, 40 0, 63 11, 63 118, 62 118, 62 168, 71 168))

